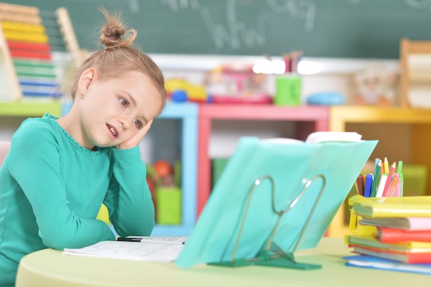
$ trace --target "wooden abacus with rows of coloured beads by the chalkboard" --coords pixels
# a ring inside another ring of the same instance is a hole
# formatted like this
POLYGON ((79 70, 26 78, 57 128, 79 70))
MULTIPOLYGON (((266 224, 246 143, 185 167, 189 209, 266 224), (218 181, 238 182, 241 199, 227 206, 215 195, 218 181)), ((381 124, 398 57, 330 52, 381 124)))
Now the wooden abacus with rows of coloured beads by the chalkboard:
POLYGON ((61 97, 59 76, 52 61, 53 47, 70 52, 75 63, 84 54, 67 10, 43 12, 37 7, 0 3, 0 22, 0 52, 12 98, 61 97), (41 14, 52 14, 54 21, 47 25, 41 14))

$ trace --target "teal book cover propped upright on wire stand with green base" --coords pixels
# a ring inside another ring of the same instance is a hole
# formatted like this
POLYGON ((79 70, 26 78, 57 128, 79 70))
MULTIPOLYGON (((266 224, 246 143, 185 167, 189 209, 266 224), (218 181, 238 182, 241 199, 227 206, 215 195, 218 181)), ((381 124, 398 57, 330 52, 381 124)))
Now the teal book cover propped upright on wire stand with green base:
POLYGON ((294 254, 317 246, 376 145, 241 138, 176 265, 321 268, 294 254))

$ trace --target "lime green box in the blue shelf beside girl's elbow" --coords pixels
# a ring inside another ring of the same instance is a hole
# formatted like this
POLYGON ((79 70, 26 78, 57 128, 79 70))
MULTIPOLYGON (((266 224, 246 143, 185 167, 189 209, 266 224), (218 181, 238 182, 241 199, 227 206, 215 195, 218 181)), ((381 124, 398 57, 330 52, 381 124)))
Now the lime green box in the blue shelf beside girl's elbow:
POLYGON ((181 224, 181 189, 158 187, 156 189, 156 223, 181 224))

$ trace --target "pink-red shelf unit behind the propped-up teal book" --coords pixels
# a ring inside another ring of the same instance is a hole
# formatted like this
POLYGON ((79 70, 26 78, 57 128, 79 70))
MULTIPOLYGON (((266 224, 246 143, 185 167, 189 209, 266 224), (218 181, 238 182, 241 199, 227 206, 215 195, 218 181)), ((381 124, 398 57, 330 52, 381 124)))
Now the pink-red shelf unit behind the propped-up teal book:
MULTIPOLYGON (((198 215, 204 208, 211 193, 211 156, 210 140, 215 121, 229 120, 225 129, 234 126, 234 122, 246 121, 247 127, 262 122, 279 122, 282 129, 291 129, 284 137, 305 140, 313 131, 328 130, 328 107, 301 106, 277 107, 274 105, 228 105, 202 104, 199 107, 198 123, 198 215)), ((271 125, 268 129, 271 129, 271 125)), ((266 126, 267 127, 267 126, 266 126)), ((275 128, 275 123, 274 127, 275 128)), ((229 133, 229 130, 227 131, 229 133)), ((237 133, 235 133, 237 134, 237 133)))

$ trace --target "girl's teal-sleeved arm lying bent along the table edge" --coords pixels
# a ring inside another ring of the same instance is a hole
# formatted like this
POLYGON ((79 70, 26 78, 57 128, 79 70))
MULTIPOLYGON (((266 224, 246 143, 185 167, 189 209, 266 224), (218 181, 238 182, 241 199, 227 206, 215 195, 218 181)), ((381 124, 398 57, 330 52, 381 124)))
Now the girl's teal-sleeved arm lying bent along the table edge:
MULTIPOLYGON (((115 240, 107 224, 90 217, 79 217, 70 209, 60 163, 67 159, 60 158, 61 149, 63 146, 46 123, 23 124, 12 138, 8 169, 30 202, 39 226, 39 237, 46 246, 56 249, 115 240)), ((68 176, 76 177, 74 174, 68 176)), ((23 202, 23 208, 30 206, 23 202)))

